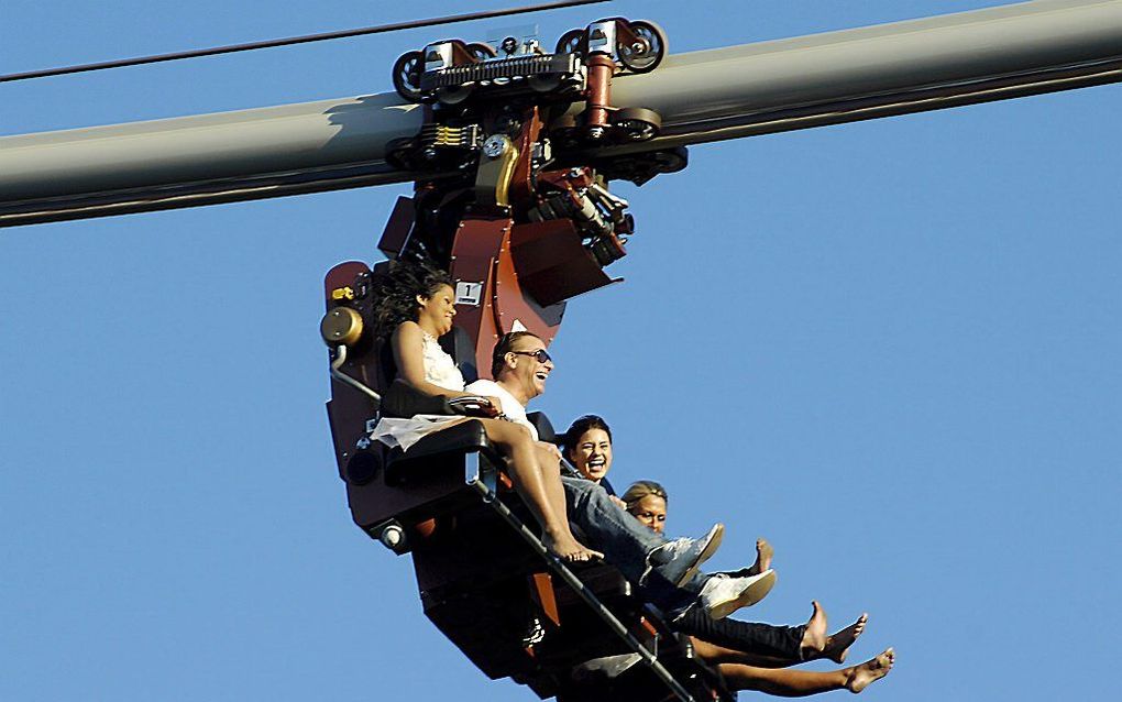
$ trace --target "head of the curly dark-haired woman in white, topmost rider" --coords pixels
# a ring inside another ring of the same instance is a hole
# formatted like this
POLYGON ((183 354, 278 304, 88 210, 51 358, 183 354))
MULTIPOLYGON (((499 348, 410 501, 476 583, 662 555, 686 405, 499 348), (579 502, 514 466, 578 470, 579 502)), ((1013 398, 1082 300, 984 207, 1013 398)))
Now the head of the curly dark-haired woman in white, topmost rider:
POLYGON ((415 321, 435 336, 452 329, 456 293, 452 279, 425 264, 393 261, 370 276, 377 334, 386 336, 404 321, 415 321))

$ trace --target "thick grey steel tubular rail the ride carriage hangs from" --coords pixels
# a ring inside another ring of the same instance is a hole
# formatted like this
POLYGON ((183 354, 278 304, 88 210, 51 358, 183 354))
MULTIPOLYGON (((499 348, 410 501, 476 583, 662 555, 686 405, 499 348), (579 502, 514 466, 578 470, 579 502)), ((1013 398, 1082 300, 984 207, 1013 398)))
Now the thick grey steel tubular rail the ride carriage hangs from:
MULTIPOLYGON (((1038 0, 669 56, 613 102, 663 116, 634 152, 1119 81, 1122 0, 1038 0)), ((4 137, 0 226, 407 181, 384 147, 420 124, 378 94, 4 137)))

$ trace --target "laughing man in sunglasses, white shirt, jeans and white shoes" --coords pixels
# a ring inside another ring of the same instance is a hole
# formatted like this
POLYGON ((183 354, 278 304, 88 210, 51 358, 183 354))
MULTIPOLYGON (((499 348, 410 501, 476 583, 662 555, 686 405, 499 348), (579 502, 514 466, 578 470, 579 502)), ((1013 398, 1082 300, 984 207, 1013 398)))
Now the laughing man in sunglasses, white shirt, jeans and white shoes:
MULTIPOLYGON (((545 343, 528 331, 504 335, 491 355, 494 381, 478 380, 465 390, 498 400, 502 416, 526 427, 536 439, 537 430, 526 418, 526 404, 545 392, 553 359, 545 343)), ((561 452, 544 441, 558 466, 561 452)), ((543 461, 543 465, 545 462, 543 461)), ((710 577, 698 573, 703 560, 720 545, 724 526, 715 525, 699 539, 668 540, 643 527, 615 504, 604 487, 579 476, 561 476, 569 521, 586 537, 585 544, 603 551, 629 581, 643 587, 650 602, 678 614, 697 604, 714 619, 741 607, 755 604, 775 582, 772 571, 746 577, 710 577)))

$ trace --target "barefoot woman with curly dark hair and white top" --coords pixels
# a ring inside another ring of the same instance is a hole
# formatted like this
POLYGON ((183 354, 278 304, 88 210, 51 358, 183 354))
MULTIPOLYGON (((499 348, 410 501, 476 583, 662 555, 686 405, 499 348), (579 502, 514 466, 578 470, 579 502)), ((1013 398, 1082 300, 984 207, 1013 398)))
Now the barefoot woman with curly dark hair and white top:
MULTIPOLYGON (((472 396, 463 391, 463 376, 456 362, 436 343, 439 337, 452 330, 456 317, 451 277, 426 265, 392 262, 386 272, 371 276, 370 283, 375 300, 378 300, 375 334, 389 337, 397 376, 427 395, 472 396)), ((569 529, 560 474, 548 469, 549 462, 530 432, 502 419, 499 402, 494 398, 487 400, 485 410, 493 417, 477 420, 482 422, 487 438, 506 457, 511 481, 542 526, 542 541, 546 548, 567 562, 600 557, 599 553, 578 543, 569 529)), ((384 417, 373 436, 387 446, 407 450, 421 437, 461 421, 467 418, 384 417)))

